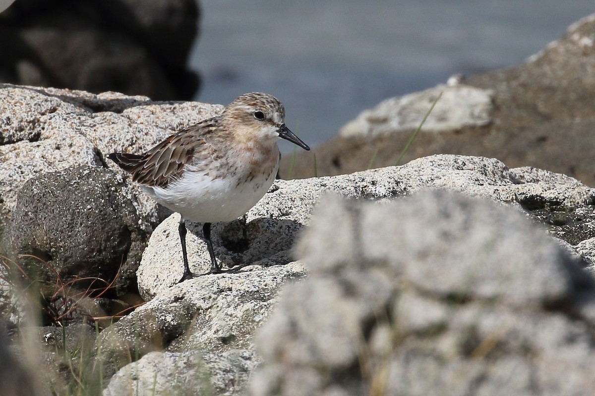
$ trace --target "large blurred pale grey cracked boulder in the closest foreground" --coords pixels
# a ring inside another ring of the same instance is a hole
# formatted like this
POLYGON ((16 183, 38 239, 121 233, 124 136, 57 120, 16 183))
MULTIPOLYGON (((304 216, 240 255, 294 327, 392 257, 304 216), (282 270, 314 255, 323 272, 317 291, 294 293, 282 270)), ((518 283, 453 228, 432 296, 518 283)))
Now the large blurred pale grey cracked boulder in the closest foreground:
POLYGON ((327 198, 257 337, 252 395, 589 395, 595 279, 518 211, 327 198), (387 219, 392 219, 387 221, 387 219))

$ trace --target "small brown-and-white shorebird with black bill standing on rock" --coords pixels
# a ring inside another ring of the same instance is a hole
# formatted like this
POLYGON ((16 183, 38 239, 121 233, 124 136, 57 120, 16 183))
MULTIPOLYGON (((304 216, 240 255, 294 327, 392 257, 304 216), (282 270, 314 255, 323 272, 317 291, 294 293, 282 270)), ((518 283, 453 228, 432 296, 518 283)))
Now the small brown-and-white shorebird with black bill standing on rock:
POLYGON ((279 167, 277 138, 310 150, 285 126, 283 104, 271 95, 252 92, 231 102, 220 116, 183 129, 144 154, 108 155, 155 201, 180 213, 184 260, 180 282, 196 276, 188 265, 184 221, 204 223, 209 273, 220 273, 211 223, 235 220, 264 197, 279 167))

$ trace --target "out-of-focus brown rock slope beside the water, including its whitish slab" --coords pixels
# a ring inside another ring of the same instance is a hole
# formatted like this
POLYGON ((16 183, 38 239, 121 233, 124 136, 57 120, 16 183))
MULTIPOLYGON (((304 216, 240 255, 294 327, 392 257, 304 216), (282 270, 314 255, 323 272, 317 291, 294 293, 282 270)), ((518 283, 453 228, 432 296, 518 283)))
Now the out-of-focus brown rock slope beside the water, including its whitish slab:
POLYGON ((399 165, 433 154, 493 157, 511 167, 548 169, 595 186, 594 37, 592 14, 524 64, 453 76, 446 85, 384 100, 348 122, 336 138, 309 153, 285 156, 282 175, 333 176, 397 164, 443 92, 453 100, 436 104, 439 111, 430 115, 399 165), (412 115, 417 122, 409 121, 412 115))

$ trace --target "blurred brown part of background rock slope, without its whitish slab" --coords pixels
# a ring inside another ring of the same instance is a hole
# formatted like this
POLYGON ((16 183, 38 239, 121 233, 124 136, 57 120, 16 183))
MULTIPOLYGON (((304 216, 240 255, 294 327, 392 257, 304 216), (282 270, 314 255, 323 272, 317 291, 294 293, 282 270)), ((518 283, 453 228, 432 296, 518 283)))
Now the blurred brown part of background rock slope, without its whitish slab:
MULTIPOLYGON (((421 131, 399 164, 437 153, 495 157, 510 167, 552 170, 595 186, 594 36, 595 15, 590 15, 524 64, 462 78, 462 84, 493 93, 491 123, 440 134, 421 131)), ((390 119, 374 125, 383 128, 390 128, 390 119)), ((307 153, 284 156, 280 173, 308 178, 392 166, 414 130, 337 137, 307 153)))

